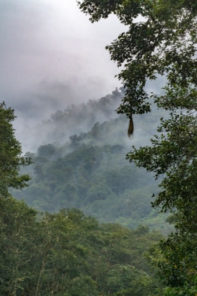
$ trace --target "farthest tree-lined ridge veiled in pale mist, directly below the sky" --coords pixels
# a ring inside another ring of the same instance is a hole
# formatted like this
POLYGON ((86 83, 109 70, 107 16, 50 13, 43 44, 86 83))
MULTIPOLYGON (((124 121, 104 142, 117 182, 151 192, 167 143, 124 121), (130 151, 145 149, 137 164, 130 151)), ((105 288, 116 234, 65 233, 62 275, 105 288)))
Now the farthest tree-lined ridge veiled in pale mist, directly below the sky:
MULTIPOLYGON (((91 99, 87 104, 65 106, 64 110, 54 109, 54 113, 46 121, 30 127, 25 125, 22 129, 21 141, 23 146, 36 152, 39 145, 51 142, 65 143, 71 135, 87 132, 96 122, 107 121, 117 117, 115 109, 124 95, 123 87, 114 90, 101 99, 91 99)), ((65 94, 65 101, 68 99, 65 94)), ((87 101, 85 97, 80 101, 87 101)))

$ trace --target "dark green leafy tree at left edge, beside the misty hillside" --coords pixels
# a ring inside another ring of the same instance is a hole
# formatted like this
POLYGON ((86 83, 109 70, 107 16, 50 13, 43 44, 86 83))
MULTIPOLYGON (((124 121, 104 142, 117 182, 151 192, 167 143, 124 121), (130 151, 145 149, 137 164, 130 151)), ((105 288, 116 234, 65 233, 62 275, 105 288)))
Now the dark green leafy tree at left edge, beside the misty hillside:
POLYGON ((30 159, 22 156, 20 142, 16 140, 13 121, 14 111, 0 104, 0 196, 8 196, 8 188, 21 189, 30 180, 28 175, 20 175, 20 166, 30 164, 30 159))

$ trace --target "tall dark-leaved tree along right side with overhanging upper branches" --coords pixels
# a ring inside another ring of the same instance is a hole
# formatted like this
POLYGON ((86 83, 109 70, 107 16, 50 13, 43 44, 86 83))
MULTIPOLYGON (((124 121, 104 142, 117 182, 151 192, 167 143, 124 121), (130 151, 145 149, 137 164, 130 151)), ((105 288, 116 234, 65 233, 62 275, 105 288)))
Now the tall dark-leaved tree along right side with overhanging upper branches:
POLYGON ((125 63, 118 75, 127 90, 118 113, 132 115, 150 111, 149 97, 170 114, 161 118, 158 135, 151 146, 127 154, 129 161, 155 172, 161 180, 160 192, 153 206, 175 213, 176 232, 160 243, 161 278, 169 288, 166 295, 196 295, 196 14, 197 3, 172 0, 84 0, 79 2, 91 22, 107 18, 110 13, 129 26, 107 49, 117 66, 125 63), (144 19, 140 22, 137 16, 144 19), (164 94, 148 95, 148 80, 165 75, 164 94))

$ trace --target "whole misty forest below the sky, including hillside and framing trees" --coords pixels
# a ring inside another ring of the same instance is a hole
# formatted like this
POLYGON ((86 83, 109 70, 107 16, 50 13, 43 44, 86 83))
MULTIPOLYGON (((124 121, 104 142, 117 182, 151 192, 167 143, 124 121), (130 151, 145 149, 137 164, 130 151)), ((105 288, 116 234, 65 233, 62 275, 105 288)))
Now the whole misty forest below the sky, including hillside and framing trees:
POLYGON ((0 295, 196 296, 197 3, 77 4, 125 25, 122 87, 24 125, 26 153, 0 104, 0 295))

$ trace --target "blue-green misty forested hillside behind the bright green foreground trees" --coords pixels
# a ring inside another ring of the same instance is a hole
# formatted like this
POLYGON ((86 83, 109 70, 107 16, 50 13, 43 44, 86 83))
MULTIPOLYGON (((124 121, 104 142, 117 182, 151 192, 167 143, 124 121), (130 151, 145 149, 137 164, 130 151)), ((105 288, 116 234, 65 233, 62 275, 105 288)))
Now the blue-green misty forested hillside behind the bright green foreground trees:
POLYGON ((48 131, 53 125, 51 139, 60 138, 65 130, 62 140, 65 135, 68 140, 64 144, 51 141, 39 146, 37 153, 27 153, 33 164, 25 172, 30 173, 32 180, 29 187, 13 192, 13 196, 39 211, 77 207, 100 222, 118 222, 129 228, 143 224, 167 233, 171 228, 165 223, 166 216, 151 209, 151 196, 158 191, 152 175, 125 159, 132 144, 148 142, 158 118, 165 113, 153 109, 151 115, 138 118, 134 137, 129 140, 127 118, 114 114, 121 93, 116 90, 87 105, 58 111, 53 115, 59 116, 58 121, 42 123, 48 131), (108 121, 94 123, 101 113, 106 114, 108 121), (89 131, 72 135, 73 130, 87 128, 91 123, 89 131))

